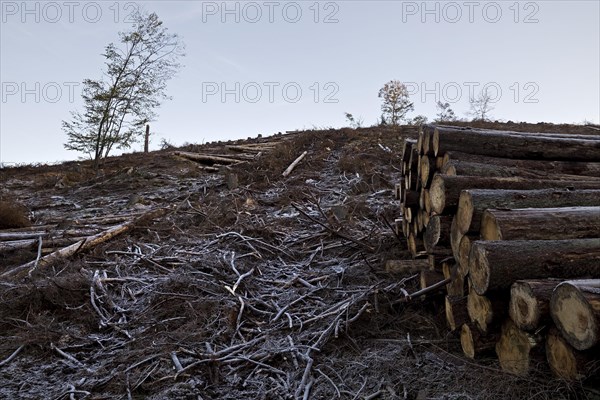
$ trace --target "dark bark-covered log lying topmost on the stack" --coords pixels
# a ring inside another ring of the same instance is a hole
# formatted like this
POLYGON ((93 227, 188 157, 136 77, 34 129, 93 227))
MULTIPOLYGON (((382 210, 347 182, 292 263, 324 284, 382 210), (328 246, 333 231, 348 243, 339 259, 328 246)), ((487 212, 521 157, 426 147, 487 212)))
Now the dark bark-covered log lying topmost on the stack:
POLYGON ((493 157, 600 161, 600 140, 593 139, 438 126, 433 133, 433 151, 436 156, 469 149, 493 157))

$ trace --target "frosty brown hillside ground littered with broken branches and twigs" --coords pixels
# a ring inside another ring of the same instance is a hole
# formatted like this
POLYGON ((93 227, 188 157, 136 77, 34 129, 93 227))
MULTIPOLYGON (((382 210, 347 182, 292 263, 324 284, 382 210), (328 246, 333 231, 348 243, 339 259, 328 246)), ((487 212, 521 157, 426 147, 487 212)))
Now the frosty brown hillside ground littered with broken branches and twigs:
MULTIPOLYGON (((544 364, 517 378, 493 357, 465 359, 443 292, 402 301, 418 278, 390 275, 384 263, 408 257, 391 228, 393 187, 403 138, 415 135, 368 128, 240 141, 276 145, 218 172, 173 149, 110 158, 99 174, 88 162, 0 170, 2 200, 21 203, 56 249, 166 209, 92 250, 0 277, 0 398, 597 396, 544 364)), ((183 150, 231 153, 225 146, 183 150)), ((37 245, 0 254, 0 274, 37 255, 37 245)))

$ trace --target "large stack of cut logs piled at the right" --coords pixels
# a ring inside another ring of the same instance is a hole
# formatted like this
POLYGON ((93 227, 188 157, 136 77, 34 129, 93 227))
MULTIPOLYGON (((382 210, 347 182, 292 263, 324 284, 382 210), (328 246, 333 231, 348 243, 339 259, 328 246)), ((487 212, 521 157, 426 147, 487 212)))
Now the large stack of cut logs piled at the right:
POLYGON ((464 354, 600 376, 600 135, 428 125, 402 172, 398 230, 464 354))

